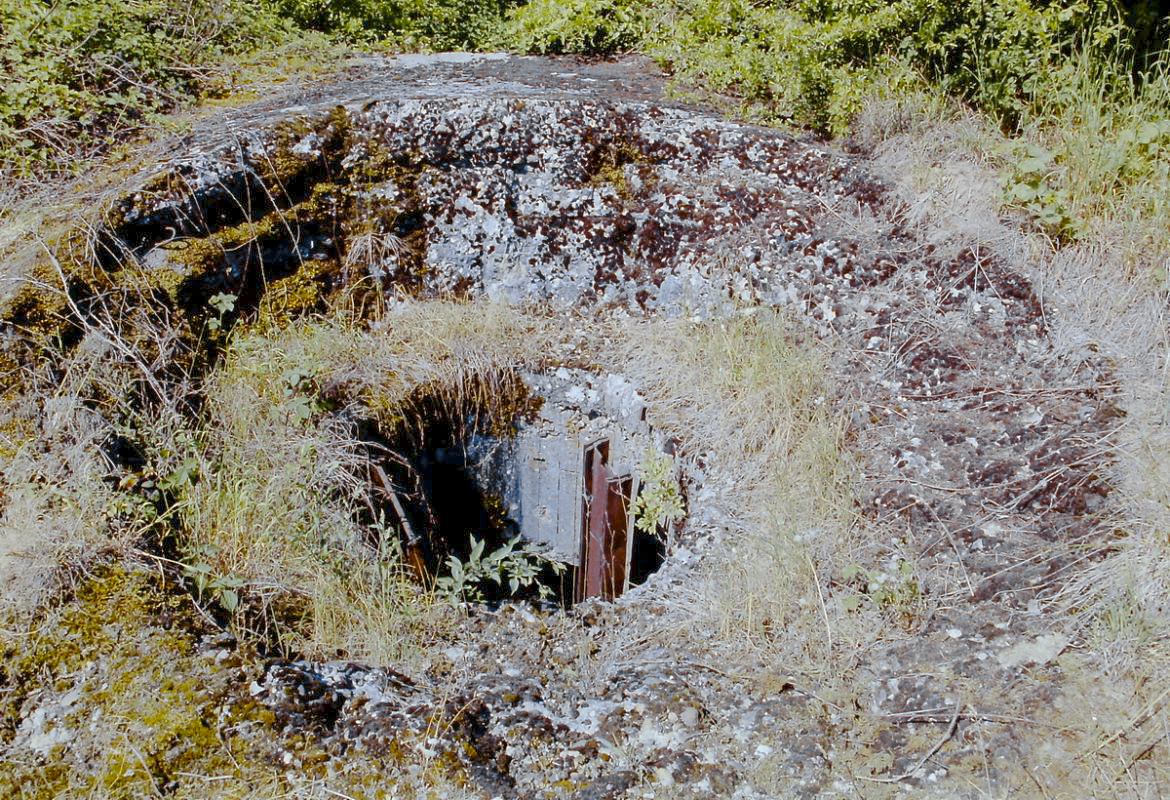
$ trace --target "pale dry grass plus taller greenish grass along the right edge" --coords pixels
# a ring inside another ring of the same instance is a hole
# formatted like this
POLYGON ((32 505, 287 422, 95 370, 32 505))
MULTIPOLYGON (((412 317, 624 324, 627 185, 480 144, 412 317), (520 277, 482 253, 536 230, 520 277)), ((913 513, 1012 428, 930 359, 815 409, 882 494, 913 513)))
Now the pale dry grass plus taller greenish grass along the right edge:
POLYGON ((1032 750, 1017 767, 1037 796, 1152 798, 1170 782, 1170 343, 1164 298, 1147 278, 1170 255, 1159 205, 1166 180, 1161 151, 1130 150, 1134 171, 1120 182, 1110 184, 1119 175, 1106 161, 1126 131, 1165 117, 1165 89, 1157 75, 1116 106, 1082 77, 1082 96, 1059 123, 1037 122, 1025 133, 1059 153, 1049 180, 1086 223, 1074 244, 1055 249, 1044 234, 1021 232, 1020 218, 1005 219, 1000 186, 1011 175, 1003 153, 1019 144, 985 122, 951 111, 890 129, 870 146, 924 241, 943 253, 977 243, 1023 269, 1045 299, 1057 353, 1103 353, 1115 366, 1127 412, 1109 442, 1119 458, 1112 475, 1119 538, 1107 551, 1071 552, 1080 568, 1049 598, 1051 623, 1079 639, 1058 660, 1055 702, 1019 729, 1032 750), (1101 192, 1106 184, 1114 188, 1101 192), (1122 277, 1136 273, 1144 275, 1122 277))

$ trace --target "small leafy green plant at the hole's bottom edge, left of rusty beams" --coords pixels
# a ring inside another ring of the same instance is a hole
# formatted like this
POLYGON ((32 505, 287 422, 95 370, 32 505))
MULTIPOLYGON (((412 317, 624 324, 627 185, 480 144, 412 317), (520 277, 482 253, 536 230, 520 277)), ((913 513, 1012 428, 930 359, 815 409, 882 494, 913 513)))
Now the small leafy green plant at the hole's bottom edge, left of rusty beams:
POLYGON ((484 554, 486 544, 470 537, 472 552, 462 561, 456 556, 447 558, 448 574, 435 580, 435 591, 445 600, 457 602, 486 602, 487 586, 495 584, 508 587, 509 596, 524 589, 535 588, 541 600, 552 598, 552 589, 541 582, 541 570, 550 567, 556 574, 565 571, 565 565, 538 553, 530 546, 517 549, 519 537, 515 536, 490 553, 484 554))

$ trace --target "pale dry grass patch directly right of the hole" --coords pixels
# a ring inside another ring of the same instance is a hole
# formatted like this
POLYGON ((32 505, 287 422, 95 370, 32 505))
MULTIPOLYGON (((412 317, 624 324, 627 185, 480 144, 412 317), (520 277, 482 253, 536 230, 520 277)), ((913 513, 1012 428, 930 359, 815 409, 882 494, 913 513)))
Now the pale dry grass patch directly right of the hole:
MULTIPOLYGON (((842 429, 817 351, 770 311, 717 323, 620 329, 610 358, 647 395, 653 419, 703 467, 688 524, 721 545, 670 601, 687 628, 735 663, 783 650, 828 668, 823 586, 849 544, 842 429), (825 572, 821 572, 825 571, 825 572)), ((696 640, 696 641, 698 641, 696 640)))

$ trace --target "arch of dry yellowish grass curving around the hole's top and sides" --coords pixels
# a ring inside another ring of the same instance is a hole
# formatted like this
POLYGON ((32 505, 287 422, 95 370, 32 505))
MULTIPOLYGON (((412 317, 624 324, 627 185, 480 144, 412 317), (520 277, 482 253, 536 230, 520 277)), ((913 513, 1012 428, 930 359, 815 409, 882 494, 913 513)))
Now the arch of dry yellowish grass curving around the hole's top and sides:
POLYGON ((312 622, 288 642, 298 651, 372 661, 418 651, 441 614, 369 551, 356 522, 369 454, 353 420, 393 426, 420 386, 442 387, 455 408, 483 405, 470 396, 490 391, 483 375, 565 363, 634 380, 662 435, 710 464, 694 515, 717 520, 729 546, 703 584, 716 602, 691 612, 744 658, 762 642, 776 647, 799 618, 808 642, 797 650, 810 664, 813 653, 824 656, 832 634, 818 570, 839 565, 848 540, 848 470, 824 365, 772 313, 707 325, 591 323, 401 301, 369 324, 342 312, 278 332, 238 331, 205 386, 204 422, 167 461, 198 462, 199 478, 174 506, 186 560, 253 596, 302 596, 312 622), (311 406, 325 389, 344 407, 311 406), (353 567, 360 563, 386 568, 353 567))

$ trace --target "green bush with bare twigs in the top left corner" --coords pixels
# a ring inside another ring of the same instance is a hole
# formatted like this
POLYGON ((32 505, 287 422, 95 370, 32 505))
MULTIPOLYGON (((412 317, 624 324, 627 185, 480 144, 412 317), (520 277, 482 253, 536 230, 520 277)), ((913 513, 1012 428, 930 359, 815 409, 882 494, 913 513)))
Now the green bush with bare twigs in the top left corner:
POLYGON ((84 153, 280 30, 254 0, 0 0, 0 161, 84 153))

